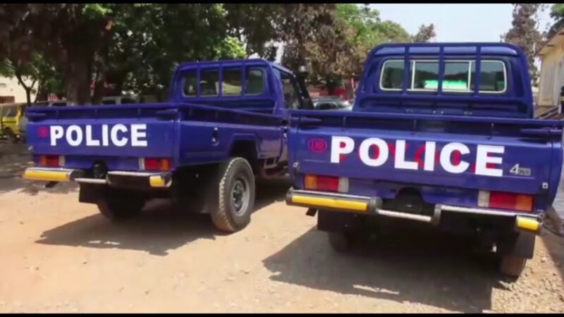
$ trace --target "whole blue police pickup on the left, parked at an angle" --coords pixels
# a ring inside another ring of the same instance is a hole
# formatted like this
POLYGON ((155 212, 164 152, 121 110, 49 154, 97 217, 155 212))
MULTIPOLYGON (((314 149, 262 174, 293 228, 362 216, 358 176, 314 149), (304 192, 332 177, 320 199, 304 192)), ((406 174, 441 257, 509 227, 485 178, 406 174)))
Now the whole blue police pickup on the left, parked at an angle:
POLYGON ((183 63, 166 103, 30 108, 24 178, 78 182, 79 201, 111 220, 170 197, 241 230, 255 179, 287 172, 288 110, 313 108, 300 79, 262 59, 183 63))

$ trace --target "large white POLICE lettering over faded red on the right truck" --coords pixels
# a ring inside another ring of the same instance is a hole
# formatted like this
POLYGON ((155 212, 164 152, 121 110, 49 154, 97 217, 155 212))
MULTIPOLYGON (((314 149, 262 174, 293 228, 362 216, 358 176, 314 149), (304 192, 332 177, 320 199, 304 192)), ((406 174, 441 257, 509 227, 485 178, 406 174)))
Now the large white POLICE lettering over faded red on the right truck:
MULTIPOLYGON (((388 148, 391 144, 386 143, 384 139, 370 137, 360 143, 358 156, 362 163, 371 167, 383 166, 386 162, 392 161, 396 169, 434 171, 436 163, 439 163, 442 170, 447 173, 460 174, 470 171, 477 175, 503 176, 501 164, 505 147, 502 146, 477 144, 477 147, 474 147, 475 153, 472 154, 470 147, 460 142, 450 142, 442 146, 437 145, 436 142, 425 142, 424 153, 422 153, 424 157, 419 158, 420 152, 418 152, 413 158, 407 155, 409 145, 405 139, 398 139, 395 142, 395 151, 393 151, 388 148), (439 151, 439 162, 436 162, 435 159, 436 151, 439 151), (391 155, 393 155, 392 159, 389 157, 391 155), (475 159, 475 166, 471 167, 472 156, 475 159)), ((422 149, 419 147, 419 150, 413 149, 410 152, 420 150, 422 149)), ((331 137, 331 163, 341 163, 345 156, 350 155, 353 151, 355 151, 355 139, 341 136, 331 137)))

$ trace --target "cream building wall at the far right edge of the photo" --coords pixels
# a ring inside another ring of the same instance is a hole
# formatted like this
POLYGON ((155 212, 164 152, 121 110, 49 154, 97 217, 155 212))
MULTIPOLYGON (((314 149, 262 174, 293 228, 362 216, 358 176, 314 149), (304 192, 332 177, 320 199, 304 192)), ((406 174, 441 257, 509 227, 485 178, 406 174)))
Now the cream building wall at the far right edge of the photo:
POLYGON ((539 106, 560 104, 560 88, 564 84, 564 42, 555 44, 541 59, 539 106))

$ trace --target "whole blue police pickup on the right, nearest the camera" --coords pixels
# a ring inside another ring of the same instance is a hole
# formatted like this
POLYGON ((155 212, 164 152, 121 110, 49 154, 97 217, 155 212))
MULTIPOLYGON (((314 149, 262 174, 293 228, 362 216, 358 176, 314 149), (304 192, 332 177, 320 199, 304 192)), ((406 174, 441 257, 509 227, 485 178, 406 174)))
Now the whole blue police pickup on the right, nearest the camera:
POLYGON ((318 213, 336 251, 402 218, 474 235, 518 278, 558 189, 562 130, 533 119, 517 46, 383 44, 353 111, 290 111, 286 201, 318 213))

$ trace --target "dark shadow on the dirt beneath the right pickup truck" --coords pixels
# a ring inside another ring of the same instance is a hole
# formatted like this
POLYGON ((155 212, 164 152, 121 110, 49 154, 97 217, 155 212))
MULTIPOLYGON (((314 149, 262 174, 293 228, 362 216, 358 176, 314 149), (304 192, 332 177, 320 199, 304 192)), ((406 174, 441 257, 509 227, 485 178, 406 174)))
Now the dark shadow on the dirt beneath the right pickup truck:
POLYGON ((492 254, 472 254, 470 241, 422 228, 386 233, 351 254, 336 254, 325 232, 305 232, 264 260, 271 280, 441 309, 491 309, 491 290, 504 288, 492 254))

